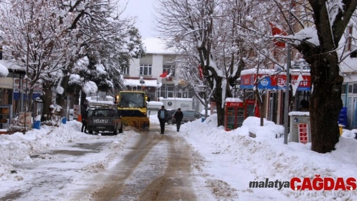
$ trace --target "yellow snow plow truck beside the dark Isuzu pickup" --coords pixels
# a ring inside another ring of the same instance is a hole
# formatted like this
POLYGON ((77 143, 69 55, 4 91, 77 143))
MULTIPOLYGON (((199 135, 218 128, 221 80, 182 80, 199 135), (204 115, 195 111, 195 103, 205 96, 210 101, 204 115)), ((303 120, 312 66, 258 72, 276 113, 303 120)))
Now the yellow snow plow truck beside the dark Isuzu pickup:
POLYGON ((115 103, 123 125, 133 126, 140 131, 149 131, 150 121, 145 92, 121 91, 115 96, 115 103))

